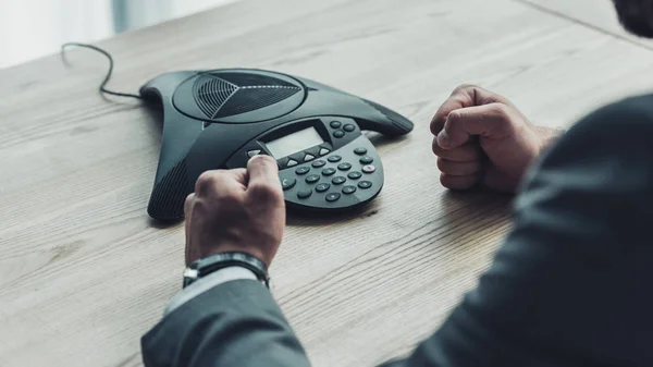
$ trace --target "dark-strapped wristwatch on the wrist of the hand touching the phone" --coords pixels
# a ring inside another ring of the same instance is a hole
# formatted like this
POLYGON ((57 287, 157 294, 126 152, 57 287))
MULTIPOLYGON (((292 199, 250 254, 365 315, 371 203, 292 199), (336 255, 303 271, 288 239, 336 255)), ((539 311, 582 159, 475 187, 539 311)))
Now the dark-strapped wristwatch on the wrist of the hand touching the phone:
POLYGON ((194 261, 184 270, 184 288, 214 271, 233 266, 251 270, 259 281, 270 288, 266 264, 252 255, 239 252, 219 253, 194 261))

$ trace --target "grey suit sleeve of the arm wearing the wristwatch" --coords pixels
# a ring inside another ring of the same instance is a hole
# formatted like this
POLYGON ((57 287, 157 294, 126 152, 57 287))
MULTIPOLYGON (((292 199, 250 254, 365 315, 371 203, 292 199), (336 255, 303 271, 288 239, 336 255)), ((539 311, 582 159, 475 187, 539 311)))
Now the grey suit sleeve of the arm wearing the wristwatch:
POLYGON ((222 283, 167 315, 141 339, 146 367, 308 367, 270 291, 255 280, 222 283))

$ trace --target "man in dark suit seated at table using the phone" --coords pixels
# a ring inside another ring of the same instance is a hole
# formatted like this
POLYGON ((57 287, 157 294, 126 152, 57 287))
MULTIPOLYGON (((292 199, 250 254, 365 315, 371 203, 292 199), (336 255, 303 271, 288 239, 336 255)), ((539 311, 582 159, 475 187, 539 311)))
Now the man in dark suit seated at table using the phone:
MULTIPOLYGON (((653 0, 614 2, 653 36, 653 0)), ((514 230, 440 330, 384 366, 653 366, 653 96, 602 108, 545 148, 551 134, 508 100, 461 86, 431 131, 446 187, 520 187, 514 230)), ((309 366, 263 285, 285 224, 275 162, 206 172, 186 216, 186 262, 221 269, 188 272, 199 279, 143 338, 145 365, 309 366)))

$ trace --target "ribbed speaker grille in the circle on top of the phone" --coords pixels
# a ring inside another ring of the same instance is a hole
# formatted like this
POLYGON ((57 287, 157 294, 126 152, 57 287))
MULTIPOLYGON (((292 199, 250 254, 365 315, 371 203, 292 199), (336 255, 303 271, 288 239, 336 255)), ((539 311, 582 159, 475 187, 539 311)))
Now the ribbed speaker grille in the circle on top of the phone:
POLYGON ((197 107, 210 119, 255 111, 289 98, 299 86, 259 74, 202 74, 193 84, 197 107))

